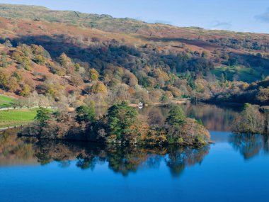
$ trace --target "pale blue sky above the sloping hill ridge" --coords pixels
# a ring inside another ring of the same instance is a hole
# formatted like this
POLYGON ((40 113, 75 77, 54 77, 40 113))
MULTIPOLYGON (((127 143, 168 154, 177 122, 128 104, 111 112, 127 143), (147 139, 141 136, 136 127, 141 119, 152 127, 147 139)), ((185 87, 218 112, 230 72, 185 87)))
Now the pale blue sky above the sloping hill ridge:
POLYGON ((50 9, 109 14, 149 23, 269 33, 269 0, 0 0, 50 9))

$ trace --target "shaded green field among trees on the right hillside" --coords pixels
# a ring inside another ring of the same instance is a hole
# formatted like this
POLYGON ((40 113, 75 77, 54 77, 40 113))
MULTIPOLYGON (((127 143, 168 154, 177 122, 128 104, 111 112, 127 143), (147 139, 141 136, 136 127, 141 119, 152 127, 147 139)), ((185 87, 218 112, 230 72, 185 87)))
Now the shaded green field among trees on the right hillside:
MULTIPOLYGON (((257 80, 261 80, 261 71, 260 68, 247 68, 247 67, 224 67, 219 66, 212 70, 212 74, 216 75, 216 77, 220 78, 222 73, 227 74, 227 79, 229 81, 233 80, 234 74, 239 76, 239 80, 243 82, 255 82, 257 80)), ((266 77, 267 75, 265 75, 266 77)))

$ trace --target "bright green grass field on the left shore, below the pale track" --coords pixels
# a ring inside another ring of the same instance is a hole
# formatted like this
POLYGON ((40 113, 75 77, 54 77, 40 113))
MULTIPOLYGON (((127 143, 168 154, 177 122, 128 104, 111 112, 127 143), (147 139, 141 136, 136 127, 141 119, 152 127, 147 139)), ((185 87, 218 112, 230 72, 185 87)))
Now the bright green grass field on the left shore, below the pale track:
POLYGON ((37 109, 0 111, 0 128, 30 123, 36 116, 37 109))

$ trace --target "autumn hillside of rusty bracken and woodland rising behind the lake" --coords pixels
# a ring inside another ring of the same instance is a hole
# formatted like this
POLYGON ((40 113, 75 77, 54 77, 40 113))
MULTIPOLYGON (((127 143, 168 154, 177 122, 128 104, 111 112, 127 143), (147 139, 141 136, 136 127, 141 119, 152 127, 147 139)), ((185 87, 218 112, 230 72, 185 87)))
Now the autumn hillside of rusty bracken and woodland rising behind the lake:
POLYGON ((268 104, 268 35, 39 6, 0 10, 0 91, 24 97, 19 106, 33 97, 71 107, 182 98, 268 104))

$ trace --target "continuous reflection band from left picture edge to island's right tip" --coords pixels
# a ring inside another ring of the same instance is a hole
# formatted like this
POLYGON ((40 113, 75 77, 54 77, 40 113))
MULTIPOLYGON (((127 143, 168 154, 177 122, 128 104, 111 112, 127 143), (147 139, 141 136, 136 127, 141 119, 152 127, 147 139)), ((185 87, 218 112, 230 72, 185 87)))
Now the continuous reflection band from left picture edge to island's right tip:
MULTIPOLYGON (((14 131, 13 131, 14 132, 14 131)), ((138 169, 156 169, 165 162, 172 176, 179 176, 183 169, 202 162, 210 146, 193 147, 120 147, 93 143, 35 140, 17 138, 16 133, 6 131, 0 135, 0 165, 21 164, 31 160, 45 165, 59 162, 59 167, 67 168, 71 162, 79 169, 95 169, 97 164, 108 164, 115 173, 127 176, 138 169)))

